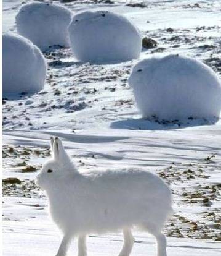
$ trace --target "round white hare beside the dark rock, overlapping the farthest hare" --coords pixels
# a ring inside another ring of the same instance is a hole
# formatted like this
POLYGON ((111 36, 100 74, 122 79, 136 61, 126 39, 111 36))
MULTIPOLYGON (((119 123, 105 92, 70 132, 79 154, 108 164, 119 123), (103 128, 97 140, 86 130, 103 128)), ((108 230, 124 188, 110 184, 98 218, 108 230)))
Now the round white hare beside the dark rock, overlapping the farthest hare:
POLYGON ((140 32, 122 15, 81 12, 74 15, 68 30, 73 54, 80 61, 122 62, 140 56, 140 32))

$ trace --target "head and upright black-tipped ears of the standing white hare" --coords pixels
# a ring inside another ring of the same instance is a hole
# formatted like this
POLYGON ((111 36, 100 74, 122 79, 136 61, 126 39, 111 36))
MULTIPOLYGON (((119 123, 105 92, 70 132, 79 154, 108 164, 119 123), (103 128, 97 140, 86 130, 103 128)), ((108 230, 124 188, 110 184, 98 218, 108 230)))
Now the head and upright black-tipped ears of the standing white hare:
POLYGON ((50 138, 50 147, 52 159, 42 166, 41 172, 36 177, 36 184, 44 190, 57 186, 75 169, 58 137, 50 138))

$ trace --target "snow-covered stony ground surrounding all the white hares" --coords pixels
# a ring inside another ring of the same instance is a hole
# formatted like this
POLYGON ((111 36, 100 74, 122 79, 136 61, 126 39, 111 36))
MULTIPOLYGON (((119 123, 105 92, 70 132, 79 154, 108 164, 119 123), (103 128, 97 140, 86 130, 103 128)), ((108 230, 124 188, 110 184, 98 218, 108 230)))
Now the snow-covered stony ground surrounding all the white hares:
MULTIPOLYGON (((129 1, 95 2, 65 6, 124 13, 143 37, 158 43, 143 50, 141 58, 183 53, 221 74, 219 0, 147 1, 143 8, 126 6, 129 1)), ((4 1, 5 31, 15 30, 19 5, 4 1)), ((221 121, 143 120, 127 85, 135 61, 90 66, 59 47, 44 55, 49 63, 44 90, 8 95, 3 101, 3 178, 22 181, 3 184, 4 255, 55 255, 58 248, 60 233, 47 215, 44 193, 33 183, 49 156, 50 135, 62 137, 82 171, 134 165, 158 173, 174 195, 174 216, 164 230, 168 255, 220 255, 221 121)), ((153 237, 135 233, 135 238, 132 255, 155 255, 153 237)), ((117 255, 121 240, 121 234, 89 237, 89 255, 117 255)), ((76 244, 68 255, 76 255, 76 244)))

